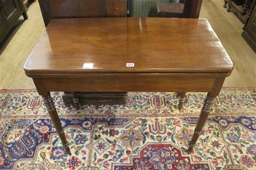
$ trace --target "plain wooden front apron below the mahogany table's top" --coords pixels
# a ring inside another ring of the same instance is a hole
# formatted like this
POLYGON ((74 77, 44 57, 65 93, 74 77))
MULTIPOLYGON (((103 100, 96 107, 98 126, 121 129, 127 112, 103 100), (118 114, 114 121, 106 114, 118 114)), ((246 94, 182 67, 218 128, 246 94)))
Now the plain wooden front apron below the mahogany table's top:
POLYGON ((87 74, 33 80, 39 93, 41 86, 44 91, 210 92, 219 78, 214 74, 87 74))

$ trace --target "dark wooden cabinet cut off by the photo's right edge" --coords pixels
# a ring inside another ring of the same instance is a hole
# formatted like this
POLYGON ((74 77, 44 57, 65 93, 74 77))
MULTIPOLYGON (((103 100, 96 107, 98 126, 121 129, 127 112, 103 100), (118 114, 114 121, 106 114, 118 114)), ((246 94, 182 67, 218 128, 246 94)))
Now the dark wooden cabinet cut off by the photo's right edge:
POLYGON ((247 16, 248 20, 245 23, 245 28, 242 33, 242 37, 249 44, 249 46, 256 53, 256 0, 254 2, 254 9, 250 9, 250 16, 247 16))

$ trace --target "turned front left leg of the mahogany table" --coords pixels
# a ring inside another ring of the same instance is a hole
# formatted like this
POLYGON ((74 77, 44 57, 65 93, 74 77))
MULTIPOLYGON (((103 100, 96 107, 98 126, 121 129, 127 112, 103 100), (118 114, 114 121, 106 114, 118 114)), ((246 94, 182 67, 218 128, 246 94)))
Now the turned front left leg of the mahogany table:
POLYGON ((60 118, 58 116, 56 108, 54 107, 54 102, 53 102, 53 99, 52 99, 50 93, 48 92, 47 95, 42 95, 42 97, 43 97, 45 106, 47 108, 47 111, 48 111, 48 113, 49 113, 49 115, 50 115, 50 117, 53 121, 54 127, 55 127, 56 131, 59 134, 62 146, 64 147, 67 154, 71 154, 69 146, 68 146, 67 139, 65 137, 65 133, 64 133, 63 128, 61 126, 60 118))

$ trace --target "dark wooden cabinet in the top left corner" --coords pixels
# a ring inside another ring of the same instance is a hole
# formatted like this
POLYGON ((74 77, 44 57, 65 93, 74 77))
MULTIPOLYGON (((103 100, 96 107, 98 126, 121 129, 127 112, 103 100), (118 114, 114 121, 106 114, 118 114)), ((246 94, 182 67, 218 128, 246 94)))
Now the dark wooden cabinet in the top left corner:
POLYGON ((20 16, 27 19, 21 0, 0 0, 0 42, 7 36, 20 16))

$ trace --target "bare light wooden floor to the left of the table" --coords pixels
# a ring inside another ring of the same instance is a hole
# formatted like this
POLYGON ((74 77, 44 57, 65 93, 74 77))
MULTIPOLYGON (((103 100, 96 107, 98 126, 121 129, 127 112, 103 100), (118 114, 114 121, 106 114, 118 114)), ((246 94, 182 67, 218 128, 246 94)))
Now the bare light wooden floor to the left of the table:
POLYGON ((26 76, 23 64, 45 30, 38 1, 29 6, 27 15, 28 19, 1 53, 0 89, 35 88, 32 79, 26 76))

